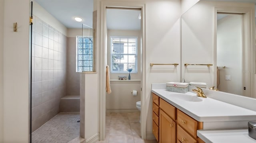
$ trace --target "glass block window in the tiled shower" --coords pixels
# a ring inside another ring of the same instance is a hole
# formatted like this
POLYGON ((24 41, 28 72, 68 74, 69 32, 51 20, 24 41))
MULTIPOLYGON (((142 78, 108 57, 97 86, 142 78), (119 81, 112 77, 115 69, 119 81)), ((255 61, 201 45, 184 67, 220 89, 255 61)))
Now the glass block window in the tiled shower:
POLYGON ((93 71, 92 37, 76 37, 76 72, 93 71))

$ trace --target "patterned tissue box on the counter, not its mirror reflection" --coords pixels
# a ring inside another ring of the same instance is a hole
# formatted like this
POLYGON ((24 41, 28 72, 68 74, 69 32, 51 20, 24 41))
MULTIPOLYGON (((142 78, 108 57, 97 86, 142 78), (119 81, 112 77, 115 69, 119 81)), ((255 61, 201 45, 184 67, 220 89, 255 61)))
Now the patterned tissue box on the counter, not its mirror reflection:
POLYGON ((171 91, 171 92, 186 93, 186 92, 188 92, 188 83, 167 82, 166 90, 171 91))

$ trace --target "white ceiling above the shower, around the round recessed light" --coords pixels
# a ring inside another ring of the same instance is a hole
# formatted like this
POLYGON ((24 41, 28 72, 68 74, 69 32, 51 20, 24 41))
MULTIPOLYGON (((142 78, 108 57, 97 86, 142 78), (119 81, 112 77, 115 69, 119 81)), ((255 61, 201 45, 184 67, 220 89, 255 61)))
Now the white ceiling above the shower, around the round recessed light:
POLYGON ((92 27, 93 0, 35 0, 67 28, 81 28, 82 23, 92 27), (80 17, 82 22, 76 22, 80 17))

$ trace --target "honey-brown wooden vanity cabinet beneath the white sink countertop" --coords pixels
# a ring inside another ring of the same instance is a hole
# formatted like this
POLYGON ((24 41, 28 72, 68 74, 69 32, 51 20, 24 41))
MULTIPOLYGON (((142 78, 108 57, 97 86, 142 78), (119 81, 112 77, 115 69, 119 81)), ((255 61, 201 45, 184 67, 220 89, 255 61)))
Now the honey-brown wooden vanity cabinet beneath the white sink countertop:
POLYGON ((198 122, 175 108, 159 96, 153 97, 153 134, 159 143, 204 143, 196 131, 202 128, 198 122))

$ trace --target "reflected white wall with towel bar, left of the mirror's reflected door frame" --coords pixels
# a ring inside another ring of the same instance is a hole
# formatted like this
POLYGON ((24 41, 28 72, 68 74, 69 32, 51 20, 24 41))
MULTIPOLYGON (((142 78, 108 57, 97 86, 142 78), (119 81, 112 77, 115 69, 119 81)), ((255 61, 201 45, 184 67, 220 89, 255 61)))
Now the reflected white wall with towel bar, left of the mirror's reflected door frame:
POLYGON ((182 15, 182 79, 186 82, 206 82, 212 86, 215 66, 187 66, 189 64, 213 64, 214 9, 201 3, 195 4, 182 15))

